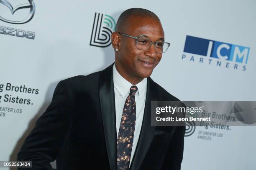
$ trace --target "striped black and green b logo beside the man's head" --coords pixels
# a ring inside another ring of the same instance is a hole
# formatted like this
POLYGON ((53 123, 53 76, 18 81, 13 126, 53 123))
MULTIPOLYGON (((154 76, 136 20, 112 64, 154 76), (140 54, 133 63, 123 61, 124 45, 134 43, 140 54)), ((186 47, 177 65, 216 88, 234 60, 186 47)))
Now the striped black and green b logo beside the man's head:
POLYGON ((110 15, 95 13, 90 45, 108 47, 111 44, 113 31, 115 31, 115 20, 110 15))

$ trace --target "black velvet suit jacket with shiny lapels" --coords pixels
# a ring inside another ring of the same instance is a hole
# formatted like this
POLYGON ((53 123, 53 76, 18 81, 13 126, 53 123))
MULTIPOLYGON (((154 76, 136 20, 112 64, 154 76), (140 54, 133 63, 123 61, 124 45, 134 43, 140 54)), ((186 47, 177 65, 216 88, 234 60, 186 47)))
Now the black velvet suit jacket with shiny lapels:
MULTIPOLYGON (((130 170, 179 170, 185 127, 151 126, 151 100, 178 99, 148 77, 141 134, 130 170)), ((57 170, 116 170, 116 139, 112 64, 58 83, 18 160, 32 161, 32 169, 52 169, 50 161, 56 160, 57 170)))

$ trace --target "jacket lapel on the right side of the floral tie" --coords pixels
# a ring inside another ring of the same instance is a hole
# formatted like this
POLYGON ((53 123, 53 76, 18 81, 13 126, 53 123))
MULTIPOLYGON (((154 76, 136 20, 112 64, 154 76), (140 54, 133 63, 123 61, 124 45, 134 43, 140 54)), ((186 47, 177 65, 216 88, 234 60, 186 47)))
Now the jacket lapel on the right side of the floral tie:
POLYGON ((151 101, 157 100, 158 97, 154 91, 153 83, 153 80, 148 77, 146 103, 141 126, 141 133, 136 147, 135 155, 133 156, 133 160, 130 166, 130 170, 139 170, 154 137, 156 127, 151 126, 151 101))

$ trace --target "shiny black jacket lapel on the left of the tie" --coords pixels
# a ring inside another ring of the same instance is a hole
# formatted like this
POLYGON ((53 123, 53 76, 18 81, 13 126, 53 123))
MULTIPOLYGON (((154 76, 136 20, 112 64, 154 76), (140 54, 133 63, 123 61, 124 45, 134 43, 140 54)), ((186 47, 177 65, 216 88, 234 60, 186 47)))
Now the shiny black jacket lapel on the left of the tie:
POLYGON ((102 70, 99 80, 100 107, 104 127, 106 147, 111 170, 117 169, 115 92, 113 84, 113 64, 102 70))

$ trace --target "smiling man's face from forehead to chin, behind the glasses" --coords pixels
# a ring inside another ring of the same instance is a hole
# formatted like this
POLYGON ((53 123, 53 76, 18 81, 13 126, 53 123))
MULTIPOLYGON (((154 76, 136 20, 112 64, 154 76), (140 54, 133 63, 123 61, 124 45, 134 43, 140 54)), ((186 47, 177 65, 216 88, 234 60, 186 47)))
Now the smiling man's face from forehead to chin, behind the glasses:
MULTIPOLYGON (((148 17, 132 15, 128 19, 125 33, 134 37, 148 37, 151 41, 164 41, 164 30, 160 21, 148 17)), ((115 59, 116 64, 127 77, 149 77, 154 67, 160 62, 161 53, 155 51, 154 44, 148 50, 136 47, 136 40, 120 35, 120 50, 115 59)))

